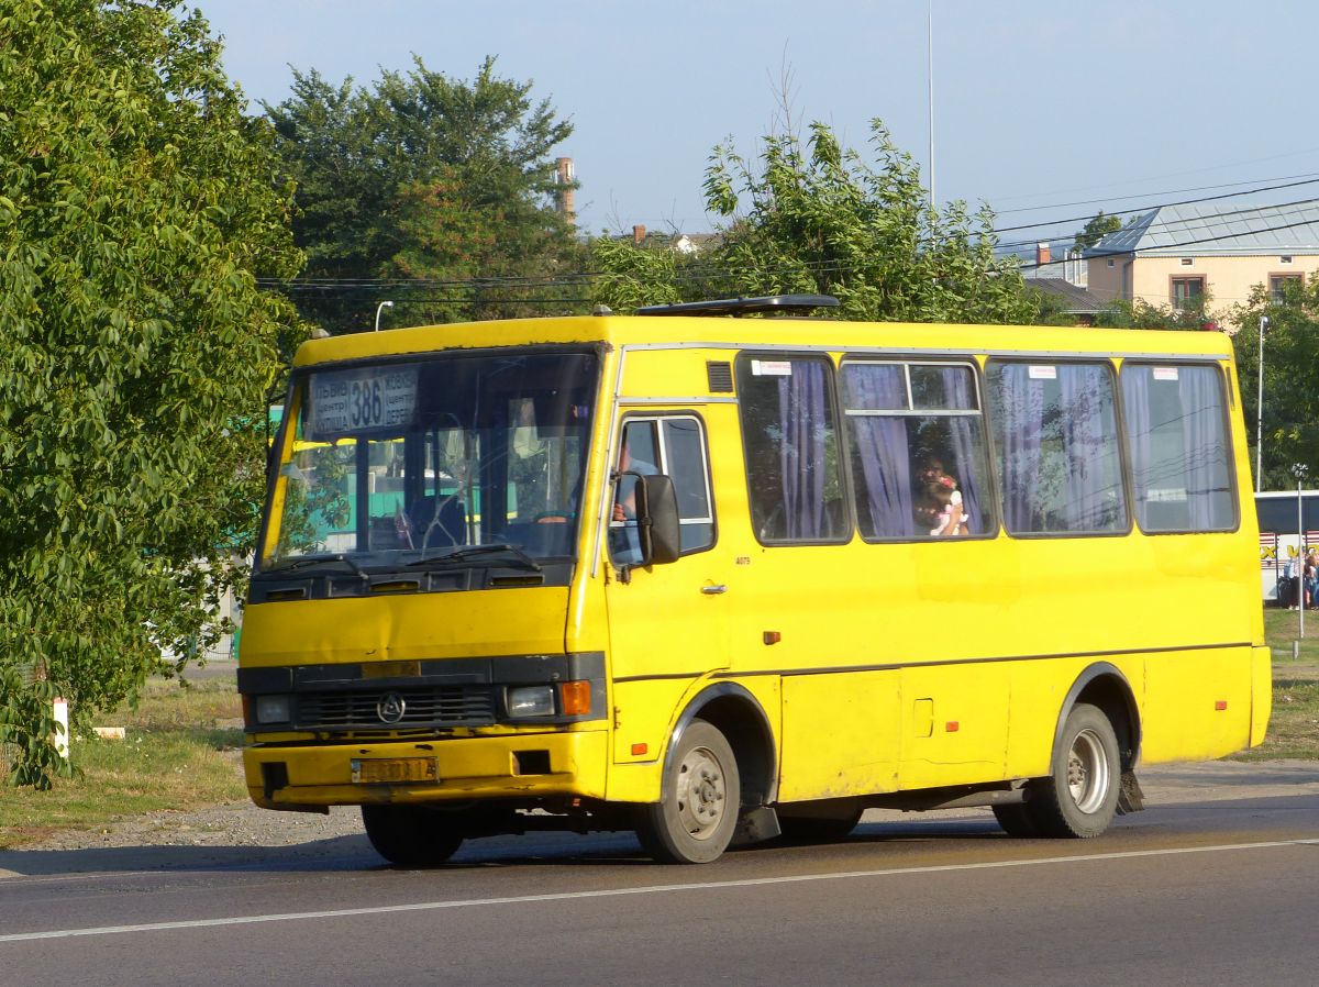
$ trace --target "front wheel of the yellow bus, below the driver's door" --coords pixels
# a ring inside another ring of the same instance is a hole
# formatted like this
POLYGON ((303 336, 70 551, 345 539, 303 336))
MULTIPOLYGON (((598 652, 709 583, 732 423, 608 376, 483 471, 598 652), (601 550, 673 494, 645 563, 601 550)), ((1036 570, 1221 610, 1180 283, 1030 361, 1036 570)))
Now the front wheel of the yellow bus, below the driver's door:
POLYGON ((716 727, 695 719, 669 755, 660 801, 637 812, 637 838, 660 863, 710 863, 732 842, 740 809, 733 749, 716 727))

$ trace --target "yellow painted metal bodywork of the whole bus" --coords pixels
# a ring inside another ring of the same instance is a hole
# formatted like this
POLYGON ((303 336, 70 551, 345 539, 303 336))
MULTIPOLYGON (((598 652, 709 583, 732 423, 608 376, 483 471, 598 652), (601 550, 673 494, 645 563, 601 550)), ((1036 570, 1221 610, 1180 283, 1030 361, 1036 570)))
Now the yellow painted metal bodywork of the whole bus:
MULTIPOLYGON (((1074 684, 1099 664, 1116 668, 1132 689, 1145 761, 1219 756, 1262 740, 1269 654, 1250 466, 1221 335, 787 319, 758 319, 748 334, 748 325, 578 317, 305 344, 298 366, 446 348, 599 344, 603 381, 582 561, 567 590, 252 607, 244 665, 604 651, 611 715, 588 730, 499 727, 438 739, 441 780, 430 785, 353 785, 348 752, 336 744, 255 747, 247 756, 253 797, 264 800, 260 764, 282 761, 290 786, 278 797, 299 805, 512 794, 654 801, 674 726, 694 697, 719 686, 745 690, 760 706, 782 801, 1037 777, 1050 768, 1074 684), (1211 356, 1229 375, 1241 525, 1210 534, 998 533, 884 545, 853 537, 845 545, 765 548, 748 516, 736 405, 707 391, 707 362, 731 362, 741 348, 814 348, 835 362, 863 350, 917 351, 980 364, 991 351, 1115 362, 1124 354, 1211 356), (623 583, 604 537, 617 429, 629 412, 665 409, 695 412, 706 424, 718 541, 671 565, 633 570, 623 583), (646 752, 633 755, 634 744, 646 752), (512 775, 514 749, 550 749, 553 772, 512 775)), ((352 744, 379 757, 419 756, 413 748, 352 744)))

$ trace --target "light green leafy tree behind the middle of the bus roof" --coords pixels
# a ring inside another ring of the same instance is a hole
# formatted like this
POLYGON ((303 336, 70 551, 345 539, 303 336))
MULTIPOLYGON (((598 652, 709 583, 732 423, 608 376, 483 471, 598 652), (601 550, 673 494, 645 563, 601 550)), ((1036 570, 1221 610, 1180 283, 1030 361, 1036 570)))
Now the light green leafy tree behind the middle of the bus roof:
POLYGON ((704 191, 727 220, 719 244, 670 268, 638 260, 645 248, 598 241, 595 301, 628 310, 714 292, 822 293, 836 296, 849 319, 1029 321, 1037 303, 1017 264, 995 257, 989 210, 935 210, 910 156, 878 121, 871 143, 877 168, 819 123, 806 146, 765 137, 756 162, 716 148, 704 191))

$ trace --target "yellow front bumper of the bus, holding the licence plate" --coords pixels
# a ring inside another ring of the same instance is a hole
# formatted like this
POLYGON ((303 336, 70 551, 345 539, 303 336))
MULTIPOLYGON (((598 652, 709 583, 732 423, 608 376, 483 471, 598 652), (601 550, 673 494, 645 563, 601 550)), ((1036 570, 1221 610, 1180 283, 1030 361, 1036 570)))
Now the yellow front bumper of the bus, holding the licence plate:
POLYGON ((570 796, 603 798, 608 732, 251 746, 243 767, 265 809, 570 796))

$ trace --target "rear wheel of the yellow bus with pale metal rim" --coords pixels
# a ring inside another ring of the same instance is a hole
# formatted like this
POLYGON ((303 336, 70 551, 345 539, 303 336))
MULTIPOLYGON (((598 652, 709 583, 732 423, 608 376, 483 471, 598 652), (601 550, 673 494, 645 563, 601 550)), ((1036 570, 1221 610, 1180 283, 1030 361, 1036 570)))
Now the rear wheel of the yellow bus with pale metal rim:
POLYGON ((1041 835, 1089 839, 1112 825, 1121 780, 1113 724, 1097 706, 1076 703, 1063 724, 1053 773, 1031 782, 1025 806, 1041 835))

